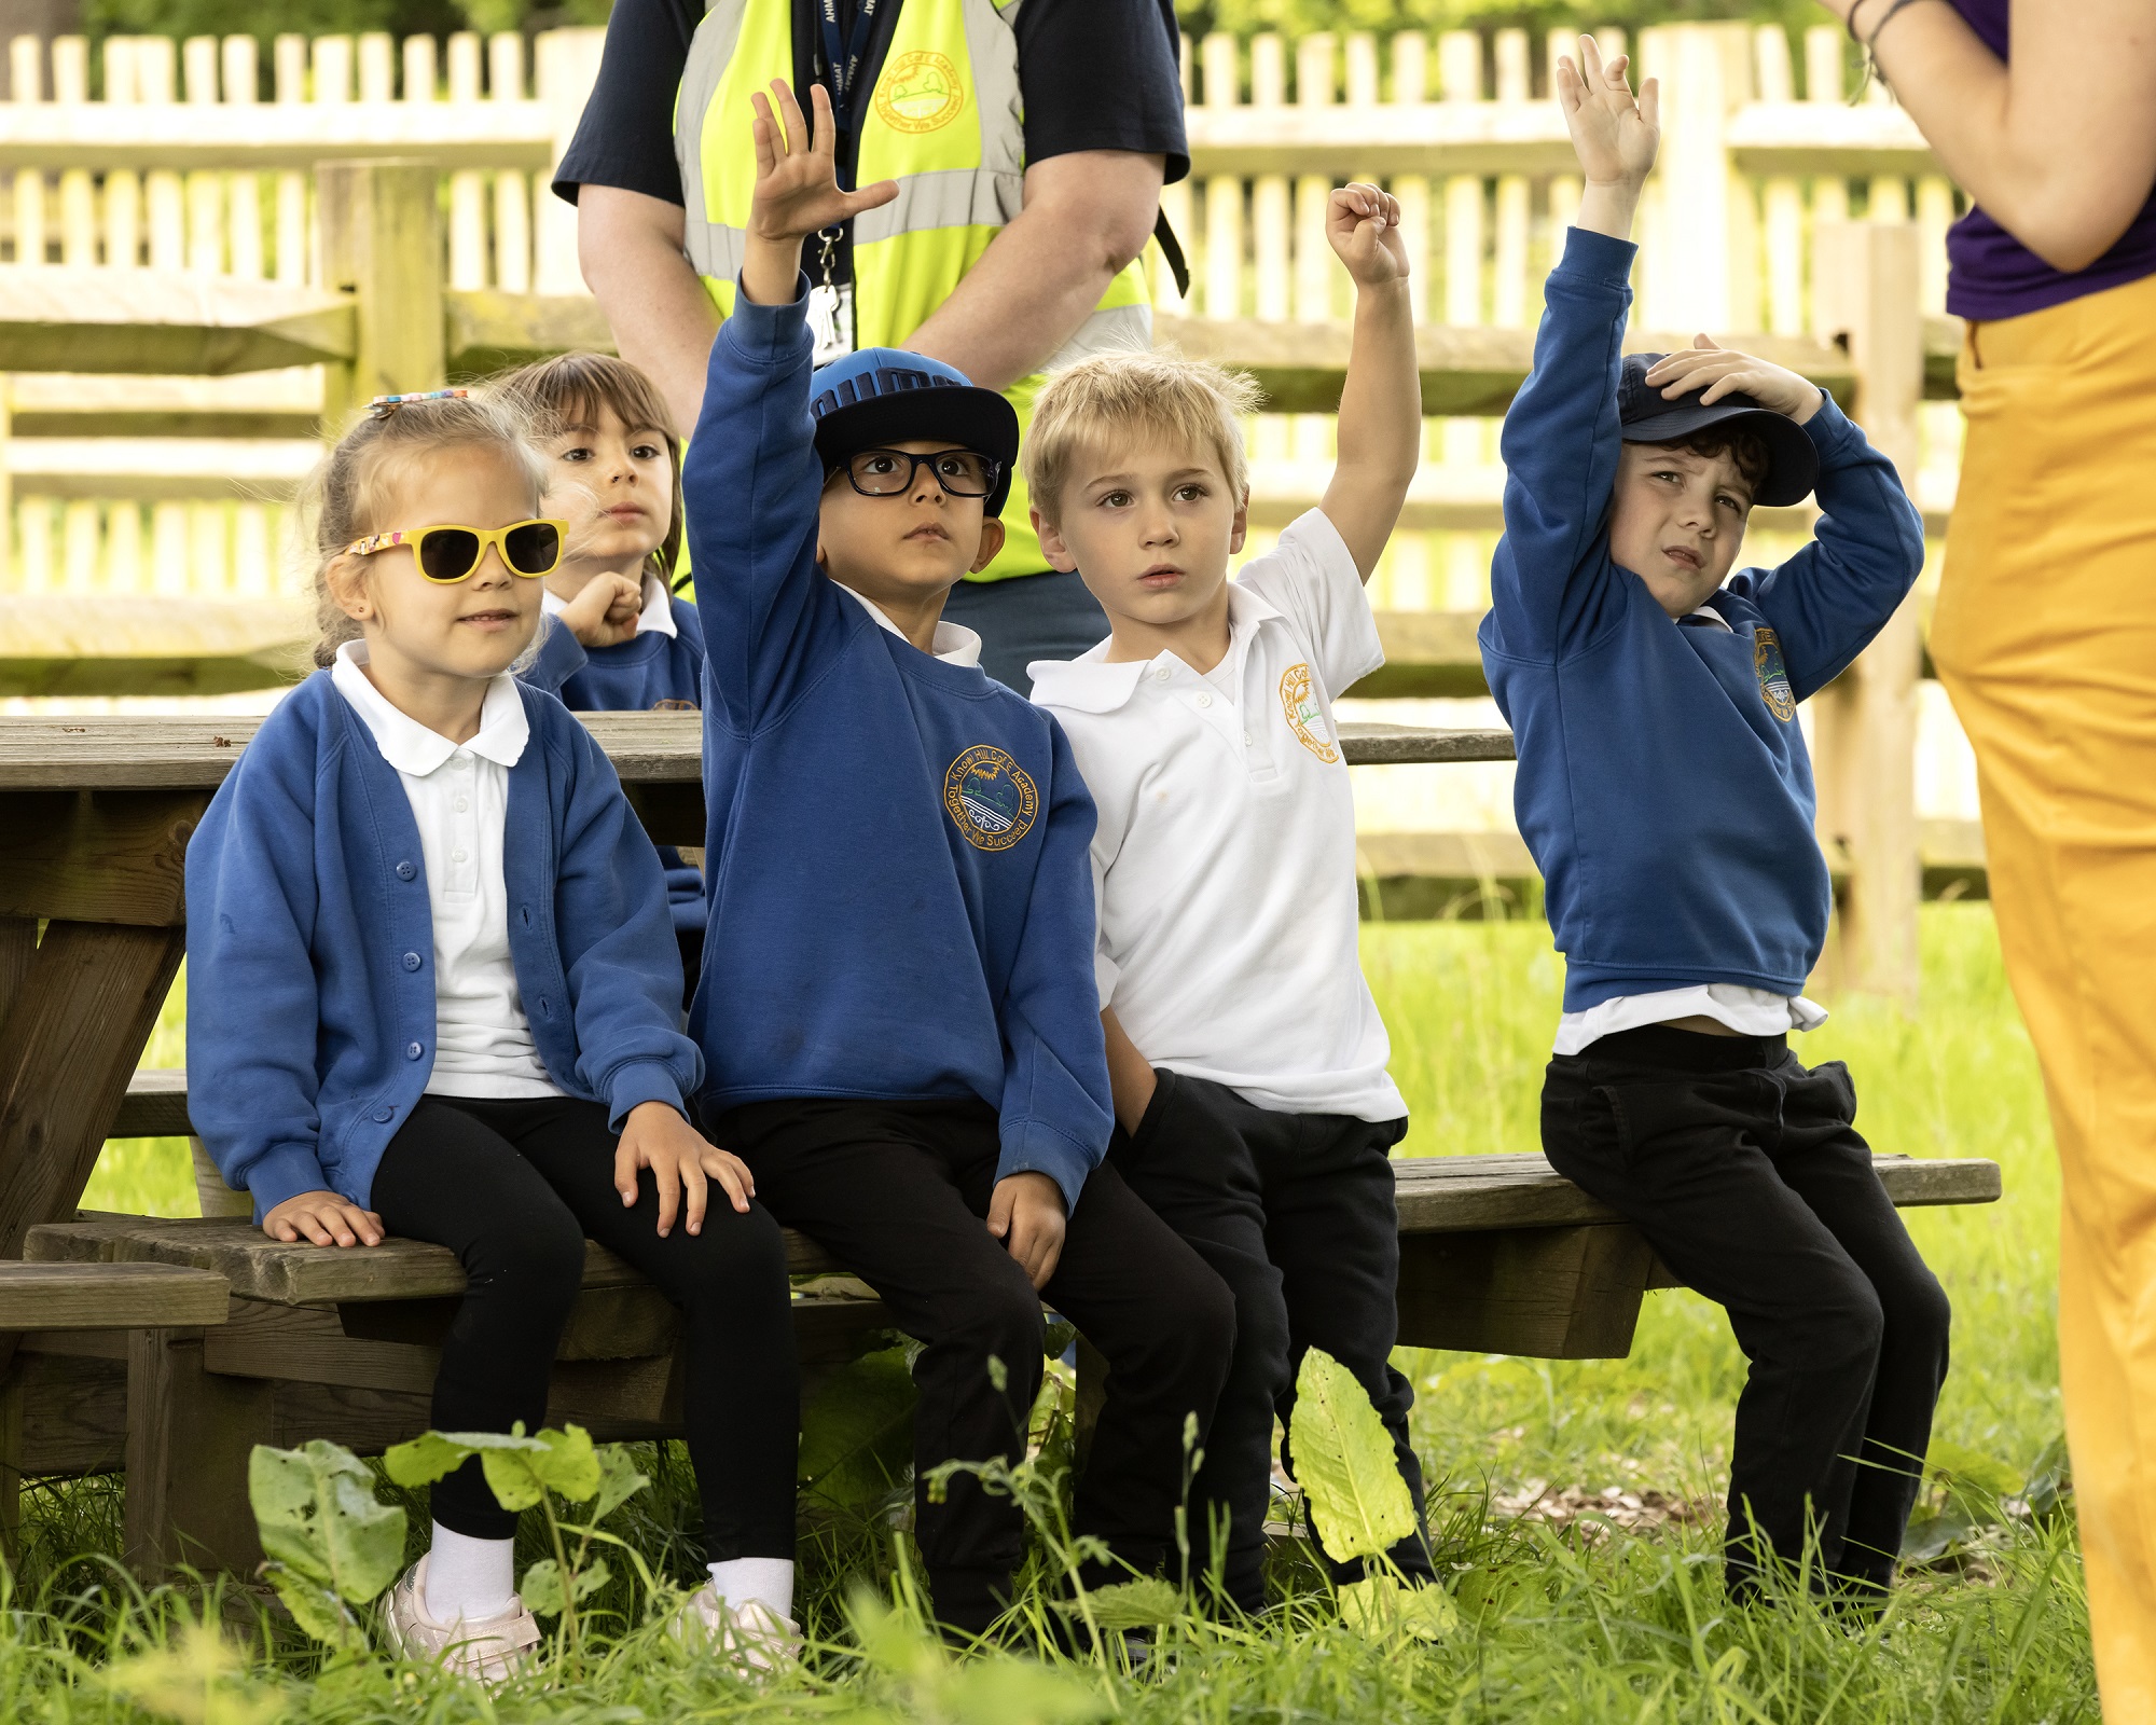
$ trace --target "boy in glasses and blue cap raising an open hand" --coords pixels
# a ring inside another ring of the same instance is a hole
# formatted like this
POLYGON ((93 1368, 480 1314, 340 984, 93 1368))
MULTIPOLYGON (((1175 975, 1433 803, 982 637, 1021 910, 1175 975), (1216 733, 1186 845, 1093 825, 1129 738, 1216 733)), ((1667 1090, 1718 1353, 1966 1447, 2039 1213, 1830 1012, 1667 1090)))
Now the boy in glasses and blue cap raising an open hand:
POLYGON ((940 621, 1003 543, 1018 418, 918 354, 811 377, 802 239, 895 188, 841 192, 828 95, 811 134, 772 88, 683 468, 709 643, 690 1035, 711 1134, 763 1203, 923 1341, 916 1535, 936 1615, 977 1634, 1009 1598, 1020 1512, 966 1475, 929 1501, 929 1471, 1024 1453, 1041 1296, 1110 1371, 1076 1527, 1117 1563, 1089 1585, 1166 1561, 1184 1425, 1212 1419, 1235 1315, 1102 1167, 1093 802, 1069 746, 940 621))

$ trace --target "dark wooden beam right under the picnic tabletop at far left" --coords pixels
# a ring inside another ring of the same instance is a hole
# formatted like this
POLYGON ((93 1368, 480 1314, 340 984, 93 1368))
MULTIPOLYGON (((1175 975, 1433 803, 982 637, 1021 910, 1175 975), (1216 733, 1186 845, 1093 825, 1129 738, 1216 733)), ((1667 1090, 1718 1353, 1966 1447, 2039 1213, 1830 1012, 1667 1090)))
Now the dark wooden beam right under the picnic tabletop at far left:
POLYGON ((172 927, 203 791, 43 791, 0 813, 0 916, 172 927))

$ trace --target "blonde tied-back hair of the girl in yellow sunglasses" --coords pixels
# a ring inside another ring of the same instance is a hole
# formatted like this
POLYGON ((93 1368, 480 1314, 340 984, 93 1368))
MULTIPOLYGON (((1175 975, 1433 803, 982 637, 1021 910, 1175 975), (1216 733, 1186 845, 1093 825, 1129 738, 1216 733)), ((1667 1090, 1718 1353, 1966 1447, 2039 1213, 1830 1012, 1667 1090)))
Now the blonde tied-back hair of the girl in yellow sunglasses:
POLYGON ((330 565, 354 539, 407 526, 384 520, 392 474, 414 457, 474 446, 498 448, 522 468, 537 511, 545 496, 545 457, 533 448, 528 414, 496 395, 373 408, 308 474, 300 492, 300 543, 310 548, 315 565, 315 664, 332 664, 338 647, 360 638, 360 625, 330 593, 330 565))

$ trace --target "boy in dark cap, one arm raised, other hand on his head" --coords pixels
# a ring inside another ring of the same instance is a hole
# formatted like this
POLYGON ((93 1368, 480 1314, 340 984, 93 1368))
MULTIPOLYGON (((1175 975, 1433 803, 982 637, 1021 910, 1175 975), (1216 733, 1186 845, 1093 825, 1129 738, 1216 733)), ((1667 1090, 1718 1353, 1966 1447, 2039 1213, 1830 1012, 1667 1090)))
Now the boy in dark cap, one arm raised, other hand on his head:
POLYGON ((1656 86, 1634 104, 1623 58, 1604 67, 1583 37, 1557 95, 1587 192, 1505 416, 1481 625, 1567 966, 1542 1141, 1729 1311, 1751 1358, 1731 1591, 1815 1535, 1820 1572, 1876 1598, 1949 1311, 1871 1171, 1848 1067, 1787 1048, 1826 1018, 1802 988, 1830 908, 1796 707, 1902 604, 1923 524, 1887 457, 1796 373, 1705 336, 1619 354, 1656 86), (1813 543, 1731 574, 1749 509, 1813 489, 1813 543))

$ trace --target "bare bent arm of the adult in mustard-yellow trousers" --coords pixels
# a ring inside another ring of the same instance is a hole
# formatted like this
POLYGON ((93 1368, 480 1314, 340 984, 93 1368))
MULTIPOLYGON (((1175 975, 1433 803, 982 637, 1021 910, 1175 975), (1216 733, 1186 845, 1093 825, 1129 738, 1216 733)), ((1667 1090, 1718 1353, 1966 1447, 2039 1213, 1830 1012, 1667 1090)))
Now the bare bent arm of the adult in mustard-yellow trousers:
MULTIPOLYGON (((1824 0, 1848 19, 1850 0, 1824 0)), ((1856 0, 1856 32, 1962 188, 2055 270, 2096 263, 2156 185, 2156 6, 2014 0, 2005 65, 1943 0, 1856 0)))

